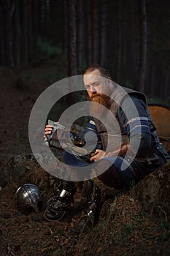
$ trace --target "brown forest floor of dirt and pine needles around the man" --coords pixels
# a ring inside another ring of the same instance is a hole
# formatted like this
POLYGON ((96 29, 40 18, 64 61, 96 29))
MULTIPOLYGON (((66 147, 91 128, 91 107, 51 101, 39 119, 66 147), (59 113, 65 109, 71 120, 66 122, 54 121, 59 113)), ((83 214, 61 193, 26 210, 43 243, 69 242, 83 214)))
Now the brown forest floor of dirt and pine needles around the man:
POLYGON ((0 69, 0 170, 7 173, 7 182, 1 181, 0 187, 0 255, 170 255, 169 223, 159 214, 151 217, 144 212, 131 191, 108 200, 98 225, 80 235, 70 232, 88 200, 88 193, 79 185, 72 212, 60 222, 47 222, 43 212, 18 211, 15 192, 21 184, 36 184, 48 200, 58 182, 30 157, 28 141, 31 108, 50 85, 49 78, 53 80, 55 68, 49 65, 0 69), (45 77, 45 72, 51 73, 45 77), (15 170, 23 171, 19 180, 15 170))

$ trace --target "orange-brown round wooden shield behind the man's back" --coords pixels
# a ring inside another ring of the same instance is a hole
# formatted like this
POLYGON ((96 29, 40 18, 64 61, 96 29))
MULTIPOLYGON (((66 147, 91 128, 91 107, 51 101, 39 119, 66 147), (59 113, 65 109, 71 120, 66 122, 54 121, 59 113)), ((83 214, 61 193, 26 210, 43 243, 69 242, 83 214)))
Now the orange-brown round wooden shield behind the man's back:
POLYGON ((170 151, 170 108, 162 104, 148 105, 158 136, 166 151, 170 151))

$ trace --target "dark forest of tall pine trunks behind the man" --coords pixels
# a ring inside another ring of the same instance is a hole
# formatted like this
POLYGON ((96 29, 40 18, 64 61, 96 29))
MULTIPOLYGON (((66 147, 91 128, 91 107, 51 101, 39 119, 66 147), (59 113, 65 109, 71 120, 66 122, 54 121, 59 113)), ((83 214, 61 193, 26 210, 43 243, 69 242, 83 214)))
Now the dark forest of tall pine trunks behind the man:
POLYGON ((0 0, 0 66, 53 54, 67 76, 98 63, 115 82, 168 102, 169 10, 168 0, 0 0))

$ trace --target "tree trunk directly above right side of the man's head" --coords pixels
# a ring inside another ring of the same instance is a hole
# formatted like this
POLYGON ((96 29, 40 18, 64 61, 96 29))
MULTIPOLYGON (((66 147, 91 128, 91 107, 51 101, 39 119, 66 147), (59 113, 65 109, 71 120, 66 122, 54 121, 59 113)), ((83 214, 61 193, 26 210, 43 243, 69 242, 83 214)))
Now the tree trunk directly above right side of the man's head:
POLYGON ((107 3, 101 0, 101 39, 100 39, 100 63, 105 65, 107 61, 107 3))

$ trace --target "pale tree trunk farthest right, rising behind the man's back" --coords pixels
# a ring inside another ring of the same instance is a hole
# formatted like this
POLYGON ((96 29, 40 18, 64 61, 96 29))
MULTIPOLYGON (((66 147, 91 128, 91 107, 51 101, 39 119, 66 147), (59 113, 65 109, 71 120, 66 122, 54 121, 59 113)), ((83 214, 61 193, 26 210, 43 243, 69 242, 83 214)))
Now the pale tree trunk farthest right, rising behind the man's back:
POLYGON ((147 12, 146 0, 141 0, 142 50, 139 74, 139 90, 144 92, 147 72, 147 12))

